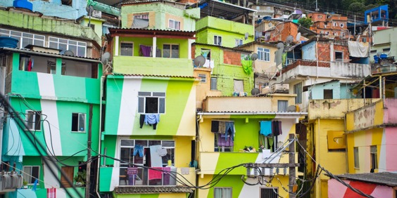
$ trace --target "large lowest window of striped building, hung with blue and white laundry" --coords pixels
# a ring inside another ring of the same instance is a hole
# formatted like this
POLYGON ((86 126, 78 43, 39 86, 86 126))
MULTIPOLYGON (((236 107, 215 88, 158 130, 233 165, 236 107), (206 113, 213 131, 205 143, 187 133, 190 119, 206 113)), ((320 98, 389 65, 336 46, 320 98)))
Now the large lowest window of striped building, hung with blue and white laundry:
MULTIPOLYGON (((160 178, 149 180, 149 170, 141 166, 165 167, 175 165, 174 140, 120 140, 120 185, 176 185, 176 174, 162 174, 160 178), (152 149, 155 150, 152 150, 152 149), (160 154, 161 152, 161 154, 160 154), (136 164, 136 174, 129 179, 128 169, 136 164)), ((177 171, 170 168, 170 171, 177 171)))

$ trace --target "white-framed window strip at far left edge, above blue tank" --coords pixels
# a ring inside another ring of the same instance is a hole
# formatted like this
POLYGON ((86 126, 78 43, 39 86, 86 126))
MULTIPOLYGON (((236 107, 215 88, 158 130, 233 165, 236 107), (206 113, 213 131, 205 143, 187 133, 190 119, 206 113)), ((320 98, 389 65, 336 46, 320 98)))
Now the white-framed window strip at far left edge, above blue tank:
POLYGON ((19 41, 18 48, 25 48, 29 44, 44 47, 45 44, 45 37, 38 34, 0 29, 0 36, 12 37, 14 39, 17 39, 19 41))

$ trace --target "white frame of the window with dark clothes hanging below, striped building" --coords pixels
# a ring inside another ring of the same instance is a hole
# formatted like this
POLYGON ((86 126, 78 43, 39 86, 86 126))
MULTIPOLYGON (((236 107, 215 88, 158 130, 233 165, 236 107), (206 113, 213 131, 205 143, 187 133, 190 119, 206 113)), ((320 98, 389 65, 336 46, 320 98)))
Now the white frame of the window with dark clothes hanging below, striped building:
POLYGON ((165 92, 150 92, 150 91, 139 91, 138 92, 138 113, 140 114, 165 114, 165 92), (157 98, 157 112, 146 112, 146 98, 157 98), (143 102, 142 102, 143 101, 143 102), (144 103, 143 110, 140 110, 140 104, 144 103), (164 103, 164 110, 161 112, 160 103, 164 103))

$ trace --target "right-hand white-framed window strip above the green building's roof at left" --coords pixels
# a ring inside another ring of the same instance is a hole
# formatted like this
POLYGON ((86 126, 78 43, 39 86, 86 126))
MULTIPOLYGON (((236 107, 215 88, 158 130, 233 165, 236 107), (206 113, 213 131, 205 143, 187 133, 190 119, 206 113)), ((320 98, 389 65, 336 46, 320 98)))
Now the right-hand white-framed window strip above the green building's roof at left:
POLYGON ((49 47, 62 50, 61 53, 65 51, 73 51, 75 56, 86 56, 87 43, 74 41, 69 39, 60 39, 56 37, 49 37, 49 47))

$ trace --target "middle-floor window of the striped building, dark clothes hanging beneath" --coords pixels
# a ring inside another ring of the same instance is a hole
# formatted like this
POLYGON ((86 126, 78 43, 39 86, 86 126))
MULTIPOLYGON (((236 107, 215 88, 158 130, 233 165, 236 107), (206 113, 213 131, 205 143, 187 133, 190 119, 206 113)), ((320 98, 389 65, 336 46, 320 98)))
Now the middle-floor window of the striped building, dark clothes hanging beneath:
POLYGON ((138 112, 142 114, 164 114, 165 93, 139 91, 138 112))

